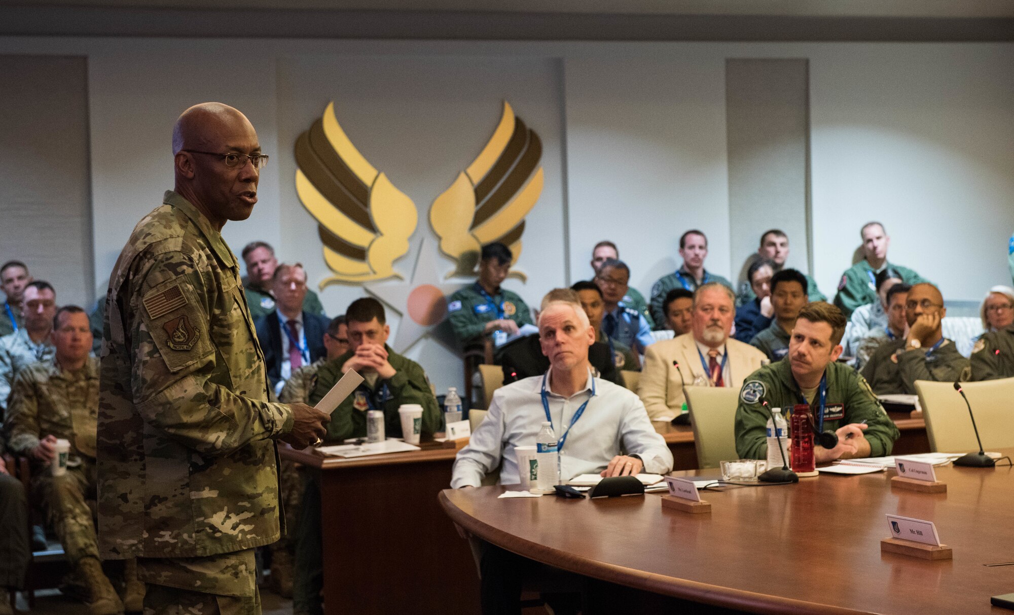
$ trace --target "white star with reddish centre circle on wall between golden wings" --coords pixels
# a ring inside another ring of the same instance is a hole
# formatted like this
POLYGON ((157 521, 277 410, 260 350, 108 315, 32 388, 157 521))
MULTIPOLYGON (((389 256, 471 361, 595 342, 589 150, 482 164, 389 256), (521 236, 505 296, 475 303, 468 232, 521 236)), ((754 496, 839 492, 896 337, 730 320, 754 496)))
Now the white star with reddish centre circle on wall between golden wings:
POLYGON ((402 315, 391 348, 404 354, 413 344, 447 318, 447 297, 461 288, 461 283, 445 283, 437 270, 436 251, 426 250, 426 238, 419 243, 416 266, 407 282, 366 284, 367 292, 402 315))

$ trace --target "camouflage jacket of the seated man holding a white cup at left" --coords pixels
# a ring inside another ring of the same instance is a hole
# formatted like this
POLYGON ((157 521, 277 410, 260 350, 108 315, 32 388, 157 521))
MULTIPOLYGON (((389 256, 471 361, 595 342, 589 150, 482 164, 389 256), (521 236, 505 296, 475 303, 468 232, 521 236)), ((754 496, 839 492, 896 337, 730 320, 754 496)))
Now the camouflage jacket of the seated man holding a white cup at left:
POLYGON ((70 465, 95 459, 98 359, 80 369, 60 368, 56 359, 28 365, 14 379, 4 430, 11 451, 27 453, 47 435, 70 440, 70 465))

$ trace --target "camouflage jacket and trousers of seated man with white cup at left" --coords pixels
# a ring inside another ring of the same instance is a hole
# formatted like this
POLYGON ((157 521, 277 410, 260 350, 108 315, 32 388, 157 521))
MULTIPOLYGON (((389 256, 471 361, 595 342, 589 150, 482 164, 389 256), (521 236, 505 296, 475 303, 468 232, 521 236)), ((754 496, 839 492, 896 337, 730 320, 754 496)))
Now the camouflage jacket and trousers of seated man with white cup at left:
POLYGON ((80 369, 61 369, 55 359, 32 363, 14 379, 4 430, 11 451, 27 456, 47 435, 70 441, 67 472, 52 476, 34 464, 31 490, 44 502, 71 565, 82 557, 98 559, 95 524, 86 503, 95 497, 95 425, 98 410, 98 359, 80 369))

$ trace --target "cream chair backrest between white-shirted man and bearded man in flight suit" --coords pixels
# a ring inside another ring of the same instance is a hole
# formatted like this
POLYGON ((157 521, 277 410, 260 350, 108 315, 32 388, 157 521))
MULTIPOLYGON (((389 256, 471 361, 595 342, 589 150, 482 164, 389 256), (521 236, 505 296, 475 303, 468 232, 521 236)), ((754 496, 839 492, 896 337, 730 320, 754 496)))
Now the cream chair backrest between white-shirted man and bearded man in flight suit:
POLYGON ((739 459, 735 419, 739 389, 735 387, 683 387, 691 411, 698 467, 717 468, 718 462, 739 459))

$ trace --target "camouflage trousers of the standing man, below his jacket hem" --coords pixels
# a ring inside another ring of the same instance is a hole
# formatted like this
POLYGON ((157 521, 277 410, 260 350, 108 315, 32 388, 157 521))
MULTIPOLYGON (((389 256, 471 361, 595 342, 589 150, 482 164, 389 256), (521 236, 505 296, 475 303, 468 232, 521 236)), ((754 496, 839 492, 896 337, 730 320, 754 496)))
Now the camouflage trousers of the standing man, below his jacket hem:
POLYGON ((144 615, 260 615, 255 550, 137 560, 144 615))

